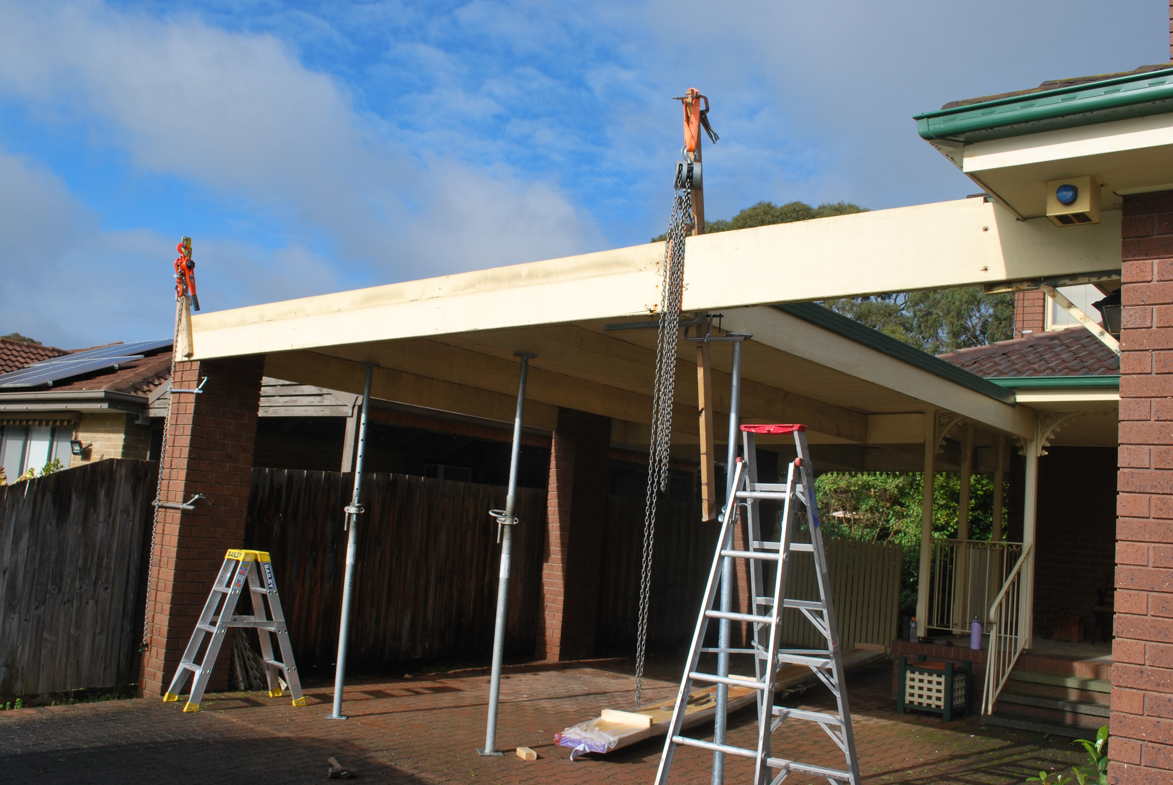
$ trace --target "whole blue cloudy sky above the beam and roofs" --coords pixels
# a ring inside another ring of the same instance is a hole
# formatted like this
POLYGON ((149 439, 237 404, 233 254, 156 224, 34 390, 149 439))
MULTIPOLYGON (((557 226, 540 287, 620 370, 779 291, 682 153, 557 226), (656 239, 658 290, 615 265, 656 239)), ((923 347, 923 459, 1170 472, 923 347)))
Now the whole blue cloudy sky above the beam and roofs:
POLYGON ((252 303, 646 242, 687 87, 710 217, 974 185, 913 114, 1165 62, 1166 6, 1036 0, 0 0, 0 334, 167 336, 252 303))

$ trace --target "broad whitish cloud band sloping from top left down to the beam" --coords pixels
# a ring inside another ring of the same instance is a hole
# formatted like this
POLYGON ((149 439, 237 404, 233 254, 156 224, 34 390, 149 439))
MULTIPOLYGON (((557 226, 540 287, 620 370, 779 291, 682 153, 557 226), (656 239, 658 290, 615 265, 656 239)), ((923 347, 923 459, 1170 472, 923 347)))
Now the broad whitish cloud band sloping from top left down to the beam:
MULTIPOLYGON (((599 244, 552 182, 425 162, 270 35, 96 2, 0 2, 0 94, 46 122, 86 126, 141 172, 243 197, 284 224, 291 246, 325 238, 335 264, 360 266, 350 277, 366 270, 381 283, 481 266, 477 256, 526 262, 599 244)), ((239 290, 245 302, 270 293, 239 290)))

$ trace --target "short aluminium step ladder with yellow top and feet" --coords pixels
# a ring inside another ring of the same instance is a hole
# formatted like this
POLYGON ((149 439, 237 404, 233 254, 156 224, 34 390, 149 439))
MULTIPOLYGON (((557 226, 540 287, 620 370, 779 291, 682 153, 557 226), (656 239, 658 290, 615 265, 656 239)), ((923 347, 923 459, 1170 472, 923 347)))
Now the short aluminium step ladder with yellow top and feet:
POLYGON ((199 711, 199 702, 204 697, 204 690, 208 689, 208 679, 211 678, 216 656, 219 654, 224 636, 230 627, 257 630, 257 635, 260 637, 260 657, 265 662, 265 676, 269 679, 269 697, 278 698, 282 695, 278 676, 278 669, 280 669, 285 675, 285 683, 289 684, 290 695, 293 697, 293 705, 304 706, 305 697, 301 695, 301 681, 297 676, 297 664, 293 662, 293 647, 290 645, 290 634, 285 627, 282 598, 277 594, 273 564, 264 550, 239 548, 232 548, 224 555, 224 566, 221 567, 211 594, 208 595, 204 610, 199 614, 199 622, 196 623, 188 648, 183 652, 183 659, 179 662, 179 669, 175 672, 175 678, 171 679, 171 686, 167 688, 163 701, 178 701, 179 690, 188 681, 188 675, 195 674, 191 695, 188 696, 188 703, 183 710, 199 711), (263 586, 258 573, 264 574, 263 586), (249 584, 249 594, 252 597, 251 616, 236 614, 236 604, 240 598, 240 591, 244 590, 245 582, 249 584), (266 601, 271 613, 265 611, 266 601), (270 618, 270 616, 272 617, 270 618), (204 657, 199 664, 196 664, 196 655, 199 654, 204 637, 209 634, 211 634, 211 638, 208 641, 204 657), (282 649, 280 662, 273 658, 270 634, 277 636, 277 643, 282 649))

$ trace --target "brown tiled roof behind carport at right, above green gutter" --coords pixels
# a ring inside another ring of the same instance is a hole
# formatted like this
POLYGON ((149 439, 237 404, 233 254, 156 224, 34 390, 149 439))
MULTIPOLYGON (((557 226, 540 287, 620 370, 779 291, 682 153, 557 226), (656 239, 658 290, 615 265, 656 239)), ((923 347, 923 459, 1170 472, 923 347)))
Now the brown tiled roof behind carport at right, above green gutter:
POLYGON ((1120 373, 1120 358, 1083 326, 938 354, 979 377, 1096 377, 1120 373))

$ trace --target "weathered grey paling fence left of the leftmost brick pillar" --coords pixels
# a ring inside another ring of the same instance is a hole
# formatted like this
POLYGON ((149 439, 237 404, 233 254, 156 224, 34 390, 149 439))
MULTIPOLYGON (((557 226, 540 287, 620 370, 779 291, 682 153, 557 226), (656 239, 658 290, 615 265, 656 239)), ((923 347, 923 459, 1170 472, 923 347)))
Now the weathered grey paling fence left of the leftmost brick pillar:
POLYGON ((156 471, 104 460, 0 486, 0 696, 135 682, 156 471))

